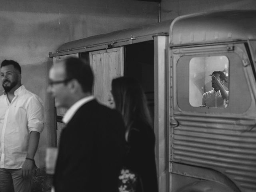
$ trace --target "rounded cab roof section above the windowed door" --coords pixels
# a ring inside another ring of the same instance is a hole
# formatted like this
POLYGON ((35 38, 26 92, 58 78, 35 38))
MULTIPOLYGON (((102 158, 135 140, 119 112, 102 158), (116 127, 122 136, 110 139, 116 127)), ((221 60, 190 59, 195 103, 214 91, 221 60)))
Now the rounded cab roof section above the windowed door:
POLYGON ((256 10, 229 10, 180 16, 171 24, 171 45, 256 40, 256 10))

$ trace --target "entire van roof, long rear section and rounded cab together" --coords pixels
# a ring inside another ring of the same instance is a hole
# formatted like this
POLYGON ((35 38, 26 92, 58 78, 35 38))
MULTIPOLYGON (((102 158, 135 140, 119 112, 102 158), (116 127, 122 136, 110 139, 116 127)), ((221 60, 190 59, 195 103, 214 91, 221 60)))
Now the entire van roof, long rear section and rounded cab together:
POLYGON ((62 44, 50 57, 100 50, 168 35, 171 46, 236 40, 256 40, 256 10, 230 10, 179 16, 156 24, 118 30, 62 44))

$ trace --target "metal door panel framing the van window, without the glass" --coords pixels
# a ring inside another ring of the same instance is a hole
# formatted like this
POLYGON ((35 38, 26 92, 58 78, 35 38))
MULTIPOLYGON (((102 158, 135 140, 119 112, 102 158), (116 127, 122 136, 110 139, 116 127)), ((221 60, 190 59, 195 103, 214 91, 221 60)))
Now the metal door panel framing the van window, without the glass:
POLYGON ((245 62, 249 62, 244 44, 205 46, 173 50, 176 68, 176 110, 200 113, 242 114, 251 105, 252 97, 244 71, 245 62), (239 45, 239 46, 238 46, 239 45), (191 106, 189 102, 189 62, 194 57, 226 56, 229 60, 229 104, 226 108, 204 108, 191 106), (246 82, 246 85, 239 84, 246 82), (239 87, 239 89, 238 89, 239 87), (242 94, 246 93, 246 94, 242 94), (242 98, 239 98, 241 96, 242 98))

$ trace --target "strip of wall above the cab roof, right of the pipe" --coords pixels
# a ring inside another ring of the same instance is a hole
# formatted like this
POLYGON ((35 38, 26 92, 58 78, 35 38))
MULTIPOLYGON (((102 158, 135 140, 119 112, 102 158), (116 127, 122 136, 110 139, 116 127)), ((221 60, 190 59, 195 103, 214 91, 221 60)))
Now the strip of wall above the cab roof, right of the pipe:
POLYGON ((255 0, 162 0, 161 21, 213 10, 256 9, 255 0))

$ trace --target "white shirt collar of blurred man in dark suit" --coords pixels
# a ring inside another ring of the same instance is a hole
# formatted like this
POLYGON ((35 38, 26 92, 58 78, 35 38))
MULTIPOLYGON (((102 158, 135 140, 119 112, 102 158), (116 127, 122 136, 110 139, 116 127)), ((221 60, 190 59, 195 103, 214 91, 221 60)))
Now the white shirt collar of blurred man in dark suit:
POLYGON ((62 121, 64 123, 68 123, 72 117, 74 116, 74 114, 76 113, 76 111, 82 106, 84 105, 85 103, 89 102, 90 100, 93 100, 94 99, 94 96, 90 95, 90 96, 87 96, 87 97, 84 97, 80 100, 78 100, 77 102, 75 102, 66 112, 66 114, 64 115, 62 121))

